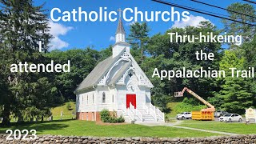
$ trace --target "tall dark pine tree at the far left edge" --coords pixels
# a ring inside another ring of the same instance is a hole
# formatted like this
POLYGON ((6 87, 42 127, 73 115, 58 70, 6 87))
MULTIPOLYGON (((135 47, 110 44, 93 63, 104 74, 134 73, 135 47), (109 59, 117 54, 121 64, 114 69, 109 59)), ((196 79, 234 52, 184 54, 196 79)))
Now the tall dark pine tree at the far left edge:
POLYGON ((18 62, 45 63, 46 58, 38 52, 38 42, 42 41, 42 47, 47 51, 51 35, 43 6, 34 6, 32 0, 1 0, 0 5, 0 73, 8 84, 8 95, 2 102, 2 123, 8 124, 10 113, 22 121, 26 108, 37 105, 34 99, 38 95, 32 89, 33 84, 45 76, 10 73, 10 65, 18 62))

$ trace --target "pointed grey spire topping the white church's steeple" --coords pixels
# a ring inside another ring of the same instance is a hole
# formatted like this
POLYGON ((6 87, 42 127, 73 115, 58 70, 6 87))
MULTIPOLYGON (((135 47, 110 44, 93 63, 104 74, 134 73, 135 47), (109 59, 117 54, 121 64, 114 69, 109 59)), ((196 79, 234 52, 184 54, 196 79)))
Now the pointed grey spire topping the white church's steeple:
POLYGON ((118 21, 118 28, 117 31, 115 33, 115 42, 125 42, 126 40, 126 31, 123 28, 123 24, 122 24, 122 10, 119 9, 119 21, 118 21))

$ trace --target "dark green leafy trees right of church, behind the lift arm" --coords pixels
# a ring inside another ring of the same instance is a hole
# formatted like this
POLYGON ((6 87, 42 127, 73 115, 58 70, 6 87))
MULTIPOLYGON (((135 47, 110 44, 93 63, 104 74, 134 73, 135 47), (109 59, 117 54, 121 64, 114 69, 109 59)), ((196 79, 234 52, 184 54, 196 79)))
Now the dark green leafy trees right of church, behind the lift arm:
MULTIPOLYGON (((179 98, 173 98, 174 92, 180 91, 184 86, 190 87, 202 98, 214 97, 214 91, 218 91, 218 83, 214 78, 171 78, 160 80, 159 78, 151 78, 154 68, 158 70, 181 70, 186 67, 189 70, 198 70, 201 66, 207 70, 210 67, 212 70, 218 70, 218 62, 222 56, 220 53, 220 43, 203 43, 203 42, 170 42, 168 33, 178 32, 179 35, 195 35, 199 32, 206 34, 213 32, 219 34, 220 31, 210 22, 201 22, 198 27, 187 26, 185 28, 173 28, 167 30, 165 34, 155 34, 152 36, 147 45, 149 58, 146 58, 142 64, 150 81, 154 84, 152 89, 153 102, 156 106, 161 106, 165 109, 167 102, 175 101, 179 98), (214 61, 198 61, 195 57, 196 51, 203 50, 205 53, 214 53, 214 61)), ((186 96, 193 98, 190 94, 186 96)))

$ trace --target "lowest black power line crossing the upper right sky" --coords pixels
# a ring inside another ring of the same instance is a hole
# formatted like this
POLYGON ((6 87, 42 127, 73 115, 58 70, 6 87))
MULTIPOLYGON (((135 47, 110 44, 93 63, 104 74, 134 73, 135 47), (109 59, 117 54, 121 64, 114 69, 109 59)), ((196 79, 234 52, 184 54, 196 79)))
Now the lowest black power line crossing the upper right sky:
POLYGON ((202 10, 201 10, 201 11, 199 11, 199 10, 194 10, 194 9, 191 9, 191 8, 188 8, 188 7, 185 7, 185 6, 178 6, 177 4, 170 3, 170 2, 165 2, 165 1, 161 1, 161 0, 152 0, 152 1, 153 1, 153 2, 162 3, 162 4, 165 4, 165 5, 168 5, 168 6, 176 6, 176 7, 179 7, 179 8, 185 9, 185 10, 191 10, 191 11, 194 11, 194 12, 197 12, 197 13, 200 13, 200 14, 210 15, 210 16, 213 16, 213 17, 216 17, 216 18, 223 18, 223 19, 230 20, 230 21, 233 21, 233 22, 239 22, 239 23, 243 23, 243 24, 246 24, 246 25, 250 25, 250 26, 256 26, 256 25, 251 24, 251 23, 241 22, 241 21, 237 21, 237 20, 234 20, 234 19, 221 17, 221 16, 218 16, 218 15, 205 13, 205 12, 202 12, 202 10))

